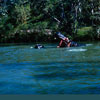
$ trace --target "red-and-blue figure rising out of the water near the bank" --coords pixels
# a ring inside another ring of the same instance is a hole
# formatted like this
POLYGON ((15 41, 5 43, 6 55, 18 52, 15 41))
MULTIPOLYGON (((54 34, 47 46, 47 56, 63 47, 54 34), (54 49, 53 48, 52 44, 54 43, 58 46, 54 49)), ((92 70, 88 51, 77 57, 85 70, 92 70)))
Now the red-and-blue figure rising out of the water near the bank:
POLYGON ((62 35, 60 32, 57 32, 57 36, 61 39, 59 47, 76 47, 77 43, 73 42, 72 40, 69 40, 68 37, 65 37, 64 35, 62 35))

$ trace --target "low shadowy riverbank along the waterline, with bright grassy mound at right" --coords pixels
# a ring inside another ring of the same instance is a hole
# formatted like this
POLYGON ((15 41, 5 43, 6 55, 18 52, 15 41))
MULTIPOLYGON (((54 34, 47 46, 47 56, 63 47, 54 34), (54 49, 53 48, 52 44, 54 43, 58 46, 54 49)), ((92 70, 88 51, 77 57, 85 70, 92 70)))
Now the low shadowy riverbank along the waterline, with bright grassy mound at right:
MULTIPOLYGON (((93 27, 82 27, 77 30, 75 34, 66 34, 65 36, 69 37, 73 41, 99 41, 100 37, 97 33, 97 30, 93 27)), ((31 31, 24 30, 16 33, 0 35, 0 43, 38 43, 38 42, 58 42, 59 39, 55 36, 56 32, 48 29, 46 31, 31 31)))

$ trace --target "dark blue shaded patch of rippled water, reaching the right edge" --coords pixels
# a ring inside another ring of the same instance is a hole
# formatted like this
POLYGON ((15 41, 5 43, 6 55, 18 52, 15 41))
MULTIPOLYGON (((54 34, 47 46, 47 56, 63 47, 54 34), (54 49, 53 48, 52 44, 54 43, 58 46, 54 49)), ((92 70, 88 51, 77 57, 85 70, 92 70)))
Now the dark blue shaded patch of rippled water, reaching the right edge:
POLYGON ((55 62, 55 63, 41 63, 41 66, 37 64, 37 66, 30 68, 31 71, 35 71, 32 78, 39 80, 50 80, 50 79, 78 79, 84 77, 94 77, 94 75, 100 74, 99 65, 96 65, 96 62, 87 63, 85 65, 84 62, 74 63, 74 62, 55 62), (91 65, 95 65, 95 67, 91 67, 91 65), (76 66, 75 66, 76 65, 76 66), (83 66, 82 66, 83 65, 83 66), (90 66, 90 68, 88 68, 90 66))

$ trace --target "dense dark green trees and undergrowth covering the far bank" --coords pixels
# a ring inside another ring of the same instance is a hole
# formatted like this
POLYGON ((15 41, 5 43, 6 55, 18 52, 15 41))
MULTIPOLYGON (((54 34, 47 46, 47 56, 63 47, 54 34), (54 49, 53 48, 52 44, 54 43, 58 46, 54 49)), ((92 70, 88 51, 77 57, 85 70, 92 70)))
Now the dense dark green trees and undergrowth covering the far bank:
POLYGON ((1 43, 53 42, 57 31, 77 41, 100 38, 99 0, 1 1, 1 43))

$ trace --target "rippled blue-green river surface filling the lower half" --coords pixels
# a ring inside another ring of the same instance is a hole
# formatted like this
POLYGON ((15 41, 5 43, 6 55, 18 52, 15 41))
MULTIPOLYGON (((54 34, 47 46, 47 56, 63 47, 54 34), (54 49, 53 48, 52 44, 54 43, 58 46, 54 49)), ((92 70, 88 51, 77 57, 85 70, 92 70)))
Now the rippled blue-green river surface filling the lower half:
POLYGON ((100 44, 0 47, 0 94, 100 94, 100 44))

